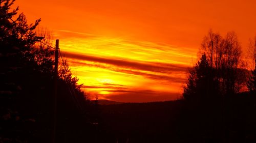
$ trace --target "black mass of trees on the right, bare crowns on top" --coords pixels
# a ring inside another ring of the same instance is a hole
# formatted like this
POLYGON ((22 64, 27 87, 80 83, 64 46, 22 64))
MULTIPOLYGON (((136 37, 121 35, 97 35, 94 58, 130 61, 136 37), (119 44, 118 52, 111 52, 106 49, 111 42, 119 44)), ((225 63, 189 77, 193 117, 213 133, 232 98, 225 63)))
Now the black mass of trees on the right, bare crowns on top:
POLYGON ((248 55, 234 32, 204 37, 200 59, 189 69, 177 132, 184 142, 256 141, 256 39, 248 55), (247 67, 246 63, 251 63, 247 67))

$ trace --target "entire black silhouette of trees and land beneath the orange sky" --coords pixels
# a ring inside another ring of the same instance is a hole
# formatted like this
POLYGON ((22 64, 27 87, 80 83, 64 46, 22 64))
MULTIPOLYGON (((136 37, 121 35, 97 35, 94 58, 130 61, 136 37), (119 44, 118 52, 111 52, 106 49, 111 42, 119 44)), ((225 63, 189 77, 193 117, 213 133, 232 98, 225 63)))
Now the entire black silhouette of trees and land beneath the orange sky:
POLYGON ((180 100, 90 101, 65 60, 55 100, 50 35, 13 3, 0 0, 0 142, 256 141, 256 38, 245 60, 236 33, 210 30, 180 100))

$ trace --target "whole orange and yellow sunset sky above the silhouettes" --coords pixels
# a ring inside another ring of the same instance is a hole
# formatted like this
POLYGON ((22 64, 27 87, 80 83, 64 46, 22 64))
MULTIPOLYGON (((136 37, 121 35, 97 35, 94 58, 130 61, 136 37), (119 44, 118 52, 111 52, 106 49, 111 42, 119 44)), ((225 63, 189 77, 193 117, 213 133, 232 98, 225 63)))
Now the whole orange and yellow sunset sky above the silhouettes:
MULTIPOLYGON (((30 22, 41 18, 91 95, 122 102, 174 100, 187 67, 212 28, 256 34, 256 1, 17 0, 30 22)), ((245 51, 245 50, 244 50, 245 51)))

